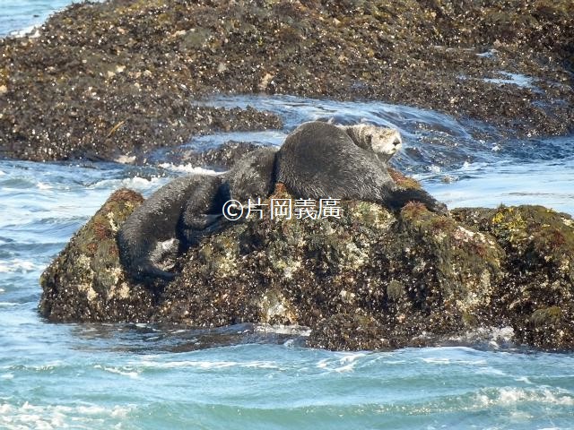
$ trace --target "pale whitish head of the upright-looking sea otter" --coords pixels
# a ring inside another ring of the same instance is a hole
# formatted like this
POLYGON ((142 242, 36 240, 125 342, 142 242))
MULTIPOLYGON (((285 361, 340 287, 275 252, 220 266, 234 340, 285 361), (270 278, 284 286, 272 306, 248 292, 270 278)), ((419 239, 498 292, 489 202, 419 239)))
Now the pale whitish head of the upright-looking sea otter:
POLYGON ((401 134, 394 128, 359 124, 346 127, 352 142, 363 150, 375 152, 383 162, 387 162, 403 145, 401 134))

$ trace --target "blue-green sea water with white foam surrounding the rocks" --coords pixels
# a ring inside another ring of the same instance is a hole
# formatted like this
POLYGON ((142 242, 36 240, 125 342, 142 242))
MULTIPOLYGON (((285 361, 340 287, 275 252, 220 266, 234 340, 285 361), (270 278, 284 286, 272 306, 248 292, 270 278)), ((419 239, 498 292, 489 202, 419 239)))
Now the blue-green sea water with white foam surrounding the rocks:
MULTIPOLYGON (((65 3, 0 0, 0 32, 65 3)), ((279 145, 311 119, 393 125, 405 147, 396 168, 450 208, 540 203, 574 214, 574 136, 508 138, 377 102, 204 103, 272 110, 285 128, 203 136, 191 148, 279 145)), ((300 329, 42 320, 39 275, 110 193, 149 195, 197 168, 161 151, 153 159, 155 167, 0 160, 0 429, 574 429, 574 354, 513 345, 505 328, 480 344, 337 353, 304 348, 300 329)))

